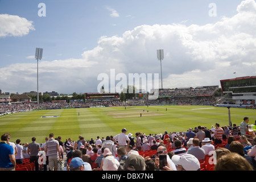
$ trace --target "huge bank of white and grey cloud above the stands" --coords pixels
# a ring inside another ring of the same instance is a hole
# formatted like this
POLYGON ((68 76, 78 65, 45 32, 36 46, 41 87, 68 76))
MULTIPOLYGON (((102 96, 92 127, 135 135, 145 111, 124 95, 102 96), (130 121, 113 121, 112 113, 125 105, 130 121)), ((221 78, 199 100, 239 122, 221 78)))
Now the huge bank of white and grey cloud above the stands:
MULTIPOLYGON (((81 59, 40 61, 39 89, 97 92, 97 76, 110 76, 110 69, 116 75, 160 73, 159 48, 164 49, 164 88, 220 85, 220 80, 234 77, 233 72, 237 77, 254 75, 256 11, 251 9, 255 5, 255 1, 243 1, 236 15, 212 24, 141 25, 122 36, 102 36, 81 59)), ((36 88, 36 63, 14 64, 0 72, 0 85, 6 85, 9 92, 36 88)))

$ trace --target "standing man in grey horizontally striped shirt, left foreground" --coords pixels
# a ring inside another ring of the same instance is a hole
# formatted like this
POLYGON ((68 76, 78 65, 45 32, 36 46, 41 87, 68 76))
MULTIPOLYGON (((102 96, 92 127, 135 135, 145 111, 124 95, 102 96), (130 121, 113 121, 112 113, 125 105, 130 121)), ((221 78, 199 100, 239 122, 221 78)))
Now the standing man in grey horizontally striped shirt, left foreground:
POLYGON ((49 169, 51 171, 57 171, 59 158, 61 159, 59 142, 53 139, 53 133, 49 134, 49 140, 46 142, 46 147, 44 148, 44 152, 48 151, 48 159, 49 159, 49 169))

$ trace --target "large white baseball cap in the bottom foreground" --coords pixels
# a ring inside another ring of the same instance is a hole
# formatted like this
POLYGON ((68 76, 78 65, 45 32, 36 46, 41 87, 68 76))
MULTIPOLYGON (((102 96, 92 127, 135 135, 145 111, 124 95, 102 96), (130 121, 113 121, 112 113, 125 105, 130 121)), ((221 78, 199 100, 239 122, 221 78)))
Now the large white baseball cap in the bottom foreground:
POLYGON ((191 154, 174 155, 172 156, 172 162, 181 165, 186 171, 197 171, 200 169, 199 160, 191 154))

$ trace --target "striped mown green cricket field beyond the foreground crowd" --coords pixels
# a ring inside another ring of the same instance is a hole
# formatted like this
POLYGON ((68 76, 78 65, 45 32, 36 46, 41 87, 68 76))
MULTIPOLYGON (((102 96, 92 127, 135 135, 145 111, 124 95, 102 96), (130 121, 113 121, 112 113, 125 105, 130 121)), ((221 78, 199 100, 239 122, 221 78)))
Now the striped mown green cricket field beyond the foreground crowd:
MULTIPOLYGON (((231 121, 240 125, 243 117, 254 124, 256 111, 230 108, 231 121)), ((136 132, 160 134, 164 131, 187 131, 189 127, 210 126, 216 122, 228 125, 228 109, 214 106, 130 106, 82 109, 27 111, 0 116, 0 134, 10 133, 11 141, 20 139, 30 143, 32 137, 43 143, 49 133, 62 140, 77 140, 81 134, 86 140, 121 133, 123 127, 135 136, 136 132), (166 111, 167 108, 167 111, 166 111), (143 109, 145 111, 143 111, 143 109), (147 112, 148 111, 148 112, 147 112), (141 117, 142 113, 142 117, 141 117), (58 116, 41 118, 42 116, 58 116)))

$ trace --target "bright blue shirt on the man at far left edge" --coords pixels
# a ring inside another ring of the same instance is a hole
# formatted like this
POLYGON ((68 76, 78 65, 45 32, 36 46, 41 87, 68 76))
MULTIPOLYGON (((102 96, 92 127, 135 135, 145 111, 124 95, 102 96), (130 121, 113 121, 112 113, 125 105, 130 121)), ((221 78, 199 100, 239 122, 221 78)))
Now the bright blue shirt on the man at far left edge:
POLYGON ((10 154, 13 154, 13 147, 5 142, 0 143, 0 167, 10 168, 14 167, 9 158, 10 154))

